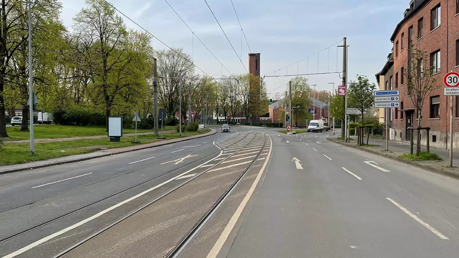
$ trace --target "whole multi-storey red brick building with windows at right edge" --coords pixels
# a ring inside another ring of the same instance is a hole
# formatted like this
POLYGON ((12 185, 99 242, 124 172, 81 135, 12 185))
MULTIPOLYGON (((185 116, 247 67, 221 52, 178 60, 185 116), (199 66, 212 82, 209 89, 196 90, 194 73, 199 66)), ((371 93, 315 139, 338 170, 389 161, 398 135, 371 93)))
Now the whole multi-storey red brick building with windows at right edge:
MULTIPOLYGON (((408 69, 414 48, 427 52, 440 86, 429 95, 420 111, 421 126, 430 126, 431 146, 449 148, 449 98, 442 95, 443 77, 449 71, 459 72, 459 1, 411 0, 391 37, 394 53, 394 83, 390 89, 400 90, 400 108, 392 109, 396 140, 409 140, 409 126, 416 126, 416 111, 407 97, 403 73, 408 69)), ((453 103, 453 149, 459 150, 459 99, 453 103)), ((421 144, 425 145, 425 132, 421 144)))

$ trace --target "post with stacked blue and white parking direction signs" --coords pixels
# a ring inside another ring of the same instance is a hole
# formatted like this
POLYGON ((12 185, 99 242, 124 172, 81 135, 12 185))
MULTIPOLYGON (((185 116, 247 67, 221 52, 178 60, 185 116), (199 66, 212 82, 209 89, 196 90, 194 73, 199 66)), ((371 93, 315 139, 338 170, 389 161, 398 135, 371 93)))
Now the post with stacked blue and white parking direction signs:
POLYGON ((386 151, 389 151, 389 112, 391 108, 400 107, 400 90, 375 90, 375 106, 384 108, 386 119, 386 151))

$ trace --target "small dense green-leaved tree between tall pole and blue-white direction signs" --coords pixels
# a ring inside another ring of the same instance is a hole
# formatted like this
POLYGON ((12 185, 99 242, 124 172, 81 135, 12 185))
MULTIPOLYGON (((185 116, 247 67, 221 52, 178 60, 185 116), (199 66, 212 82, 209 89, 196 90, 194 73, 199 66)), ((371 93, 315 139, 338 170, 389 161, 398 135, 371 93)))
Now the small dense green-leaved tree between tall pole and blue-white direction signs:
POLYGON ((348 107, 358 108, 362 113, 362 126, 364 125, 365 109, 373 107, 375 97, 373 92, 376 88, 375 84, 370 84, 368 77, 357 75, 357 81, 351 81, 348 87, 348 107))

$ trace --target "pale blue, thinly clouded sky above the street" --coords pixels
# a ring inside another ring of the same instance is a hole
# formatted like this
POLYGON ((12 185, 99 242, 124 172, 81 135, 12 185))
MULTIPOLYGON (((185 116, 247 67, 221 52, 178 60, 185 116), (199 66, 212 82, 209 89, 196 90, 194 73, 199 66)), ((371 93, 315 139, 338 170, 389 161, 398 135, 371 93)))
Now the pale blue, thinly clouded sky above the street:
MULTIPOLYGON (((204 0, 167 0, 212 51, 199 42, 166 0, 111 0, 113 6, 170 47, 182 47, 197 67, 218 78, 247 73, 248 53, 260 53, 261 76, 302 73, 316 90, 341 84, 342 38, 347 37, 348 79, 366 75, 376 83, 392 50, 390 37, 409 0, 207 0, 225 34, 204 0), (241 27, 247 42, 241 34, 241 27), (248 43, 248 44, 247 44, 248 43), (250 48, 249 48, 250 47, 250 48), (234 48, 234 50, 233 50, 234 48), (300 62, 301 61, 301 62, 300 62), (287 67, 288 66, 288 67, 287 67), (278 70, 274 73, 274 71, 278 70)), ((69 31, 84 0, 61 0, 61 18, 69 31)), ((120 13, 118 13, 121 17, 120 13)), ((140 27, 123 20, 128 28, 140 27)), ((155 49, 167 48, 156 39, 155 49)), ((292 77, 265 77, 271 98, 285 94, 292 77)))

